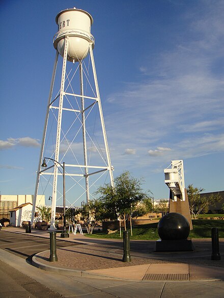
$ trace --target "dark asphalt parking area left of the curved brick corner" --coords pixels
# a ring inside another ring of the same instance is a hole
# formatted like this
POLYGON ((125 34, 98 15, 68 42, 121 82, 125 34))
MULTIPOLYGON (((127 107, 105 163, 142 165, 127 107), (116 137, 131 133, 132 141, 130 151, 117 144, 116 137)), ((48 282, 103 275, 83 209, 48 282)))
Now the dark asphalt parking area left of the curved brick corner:
MULTIPOLYGON (((57 247, 68 247, 68 246, 76 246, 78 244, 74 244, 68 241, 58 240, 57 239, 57 247)), ((10 253, 13 253, 17 256, 20 256, 26 261, 31 262, 34 254, 48 250, 49 249, 49 239, 29 236, 29 235, 21 235, 14 233, 7 233, 4 230, 1 230, 1 238, 0 238, 0 248, 7 250, 10 253)))

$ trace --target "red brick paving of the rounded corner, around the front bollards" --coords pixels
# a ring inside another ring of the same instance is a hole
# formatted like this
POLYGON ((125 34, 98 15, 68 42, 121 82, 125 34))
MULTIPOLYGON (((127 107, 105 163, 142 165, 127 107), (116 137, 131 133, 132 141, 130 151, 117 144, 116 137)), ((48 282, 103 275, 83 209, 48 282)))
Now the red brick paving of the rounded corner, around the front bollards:
MULTIPOLYGON (((108 269, 108 268, 119 268, 127 266, 142 265, 148 263, 174 263, 174 262, 183 262, 183 263, 192 263, 192 264, 202 264, 206 266, 216 266, 224 267, 224 258, 221 257, 221 260, 214 261, 211 260, 211 247, 207 245, 204 247, 204 242, 211 242, 211 240, 202 240, 197 239, 197 245, 195 245, 195 252, 192 257, 182 256, 181 253, 175 253, 175 258, 170 258, 169 253, 164 253, 162 258, 161 255, 158 255, 158 259, 150 258, 151 249, 149 248, 149 254, 146 253, 147 257, 133 257, 131 254, 131 262, 123 262, 123 245, 114 245, 111 242, 109 244, 86 244, 78 246, 70 246, 65 248, 57 249, 58 261, 49 262, 50 252, 42 252, 39 255, 39 261, 43 264, 48 264, 53 267, 60 267, 65 269, 72 270, 97 270, 97 269, 108 269), (202 242, 202 245, 200 244, 202 242), (203 255, 206 251, 207 255, 203 255), (197 255, 196 255, 197 254, 197 255)), ((223 247, 223 239, 219 239, 220 251, 223 247)), ((141 252, 141 249, 139 250, 141 252)), ((172 253, 171 253, 172 254, 172 253)))

